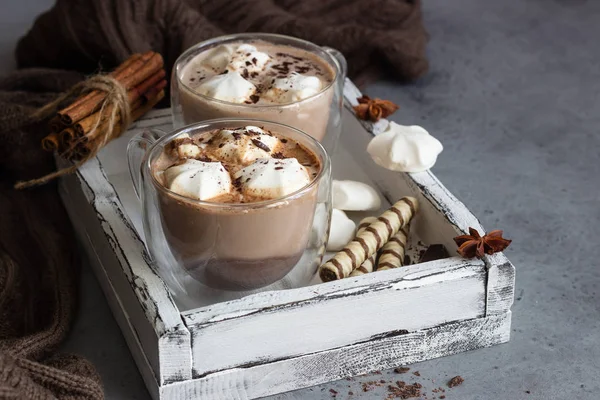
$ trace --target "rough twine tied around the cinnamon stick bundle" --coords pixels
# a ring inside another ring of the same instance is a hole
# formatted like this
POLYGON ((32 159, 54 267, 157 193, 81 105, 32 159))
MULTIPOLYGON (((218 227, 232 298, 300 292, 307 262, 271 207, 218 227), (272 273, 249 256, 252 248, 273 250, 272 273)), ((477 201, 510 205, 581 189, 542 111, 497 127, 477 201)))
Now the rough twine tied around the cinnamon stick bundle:
MULTIPOLYGON (((98 118, 88 135, 94 135, 103 120, 107 119, 108 124, 106 124, 106 129, 104 132, 99 132, 98 137, 100 140, 94 143, 90 153, 69 167, 62 168, 58 171, 44 175, 41 178, 31 179, 25 182, 17 182, 15 184, 15 189, 25 189, 32 186, 42 185, 48 183, 52 179, 59 178, 77 171, 77 169, 86 161, 94 158, 96 154, 98 154, 98 151, 100 151, 100 149, 104 147, 106 143, 112 140, 114 136, 118 136, 120 132, 124 132, 131 124, 131 107, 127 99, 127 89, 115 78, 108 75, 94 75, 85 81, 79 82, 68 92, 61 94, 56 100, 35 111, 31 117, 36 121, 46 119, 56 114, 58 108, 65 100, 72 98, 73 96, 80 96, 82 94, 89 93, 94 90, 99 90, 106 93, 106 97, 101 102, 98 118), (115 129, 117 122, 119 122, 121 125, 119 132, 116 132, 115 129)), ((67 149, 67 151, 61 154, 61 156, 64 156, 69 151, 72 151, 82 139, 83 138, 73 143, 67 149)))

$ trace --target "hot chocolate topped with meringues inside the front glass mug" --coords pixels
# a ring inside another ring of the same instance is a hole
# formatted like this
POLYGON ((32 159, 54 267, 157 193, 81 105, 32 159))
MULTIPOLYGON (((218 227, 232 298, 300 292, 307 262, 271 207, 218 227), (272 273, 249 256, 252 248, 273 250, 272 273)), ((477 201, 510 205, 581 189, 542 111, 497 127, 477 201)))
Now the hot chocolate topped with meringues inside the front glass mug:
POLYGON ((180 135, 152 164, 173 255, 216 288, 283 278, 309 240, 321 169, 309 149, 261 127, 180 135))

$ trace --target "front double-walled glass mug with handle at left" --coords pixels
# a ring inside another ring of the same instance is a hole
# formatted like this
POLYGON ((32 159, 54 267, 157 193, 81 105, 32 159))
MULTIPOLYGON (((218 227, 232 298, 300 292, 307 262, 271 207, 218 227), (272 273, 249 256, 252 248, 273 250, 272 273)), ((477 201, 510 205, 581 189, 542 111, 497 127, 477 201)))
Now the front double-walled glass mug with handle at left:
POLYGON ((127 157, 142 203, 146 246, 175 292, 189 293, 188 277, 225 291, 255 290, 281 280, 273 288, 300 287, 314 278, 331 219, 331 163, 312 137, 274 122, 217 119, 171 133, 144 130, 129 142, 127 157), (247 125, 264 127, 301 144, 316 156, 321 170, 294 193, 254 203, 191 199, 157 181, 153 164, 172 140, 247 125))

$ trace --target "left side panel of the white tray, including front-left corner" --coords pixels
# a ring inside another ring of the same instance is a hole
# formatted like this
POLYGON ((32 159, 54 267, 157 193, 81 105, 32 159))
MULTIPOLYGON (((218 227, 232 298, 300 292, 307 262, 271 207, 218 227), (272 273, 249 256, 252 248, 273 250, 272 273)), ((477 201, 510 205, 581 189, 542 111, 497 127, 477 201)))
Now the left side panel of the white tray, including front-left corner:
POLYGON ((115 284, 118 282, 117 292, 123 297, 119 302, 125 313, 135 318, 134 329, 156 380, 167 384, 190 379, 190 333, 164 282, 149 267, 144 245, 122 213, 98 160, 88 161, 76 178, 65 182, 64 197, 70 199, 71 207, 84 218, 84 224, 98 227, 94 246, 102 255, 104 272, 115 284))

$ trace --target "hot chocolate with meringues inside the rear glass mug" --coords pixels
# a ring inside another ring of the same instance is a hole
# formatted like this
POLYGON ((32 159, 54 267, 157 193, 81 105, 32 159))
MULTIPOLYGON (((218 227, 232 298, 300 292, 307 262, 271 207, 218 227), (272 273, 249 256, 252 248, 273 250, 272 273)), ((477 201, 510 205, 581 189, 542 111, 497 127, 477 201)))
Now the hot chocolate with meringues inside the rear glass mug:
POLYGON ((336 72, 321 57, 266 41, 221 44, 178 71, 186 124, 213 118, 260 118, 298 128, 322 141, 336 72))

